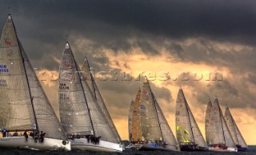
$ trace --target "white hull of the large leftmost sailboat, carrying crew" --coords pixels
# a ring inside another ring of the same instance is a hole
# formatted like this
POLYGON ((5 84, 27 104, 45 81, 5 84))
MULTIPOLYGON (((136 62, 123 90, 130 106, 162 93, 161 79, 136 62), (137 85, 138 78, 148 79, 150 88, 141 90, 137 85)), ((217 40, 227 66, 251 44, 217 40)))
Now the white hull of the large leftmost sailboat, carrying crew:
POLYGON ((66 141, 66 145, 62 144, 62 140, 44 138, 43 142, 35 142, 33 137, 29 137, 26 141, 25 137, 1 137, 0 147, 3 148, 25 148, 37 150, 59 150, 64 149, 70 151, 70 142, 66 141))

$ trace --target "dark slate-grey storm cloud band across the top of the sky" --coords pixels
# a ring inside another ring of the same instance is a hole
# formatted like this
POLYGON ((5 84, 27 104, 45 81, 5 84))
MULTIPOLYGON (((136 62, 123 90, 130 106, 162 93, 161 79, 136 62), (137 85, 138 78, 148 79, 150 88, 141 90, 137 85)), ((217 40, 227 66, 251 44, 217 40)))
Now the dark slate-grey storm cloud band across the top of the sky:
MULTIPOLYGON (((140 32, 165 38, 206 37, 250 45, 254 45, 256 36, 254 1, 9 0, 0 6, 1 25, 8 6, 17 19, 22 38, 40 38, 52 45, 65 40, 65 35, 73 31, 112 50, 130 49, 132 45, 126 38, 141 38, 140 32)), ((138 46, 157 52, 149 42, 138 42, 138 46)))

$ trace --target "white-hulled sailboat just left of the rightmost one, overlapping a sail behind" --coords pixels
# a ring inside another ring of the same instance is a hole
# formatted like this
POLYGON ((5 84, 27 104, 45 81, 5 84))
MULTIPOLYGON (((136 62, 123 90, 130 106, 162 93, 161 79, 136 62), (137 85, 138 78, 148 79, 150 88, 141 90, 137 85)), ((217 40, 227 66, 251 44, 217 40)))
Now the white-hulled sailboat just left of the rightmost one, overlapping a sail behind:
MULTIPOLYGON (((208 104, 207 106, 211 105, 208 104)), ((209 122, 206 122, 207 125, 210 125, 210 129, 206 129, 206 141, 209 145, 209 150, 237 152, 238 149, 234 144, 230 130, 228 129, 222 114, 222 109, 218 104, 218 97, 215 98, 212 107, 207 107, 207 109, 210 109, 210 113, 208 113, 210 115, 210 119, 208 119, 209 122)))

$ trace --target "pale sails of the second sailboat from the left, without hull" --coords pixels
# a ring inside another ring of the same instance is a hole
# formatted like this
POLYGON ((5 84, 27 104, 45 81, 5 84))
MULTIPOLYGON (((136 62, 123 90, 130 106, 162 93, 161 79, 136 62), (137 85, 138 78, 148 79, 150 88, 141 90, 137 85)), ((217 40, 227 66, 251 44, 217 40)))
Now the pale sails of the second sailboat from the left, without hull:
POLYGON ((59 69, 59 106, 62 125, 69 134, 94 134, 119 143, 81 73, 68 42, 59 69))

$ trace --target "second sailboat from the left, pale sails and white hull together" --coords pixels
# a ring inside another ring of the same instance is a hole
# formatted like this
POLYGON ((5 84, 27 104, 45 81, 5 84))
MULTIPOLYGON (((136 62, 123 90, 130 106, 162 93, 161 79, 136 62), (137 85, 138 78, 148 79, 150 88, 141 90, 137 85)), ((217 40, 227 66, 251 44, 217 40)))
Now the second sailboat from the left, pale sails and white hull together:
POLYGON ((61 123, 70 137, 72 149, 100 152, 122 152, 120 138, 95 92, 85 80, 85 74, 74 60, 70 44, 66 42, 59 67, 58 102, 61 123), (95 95, 96 94, 96 95, 95 95))

